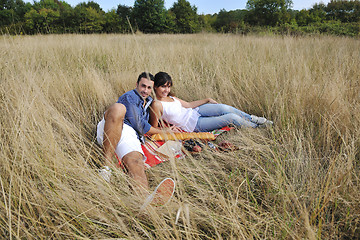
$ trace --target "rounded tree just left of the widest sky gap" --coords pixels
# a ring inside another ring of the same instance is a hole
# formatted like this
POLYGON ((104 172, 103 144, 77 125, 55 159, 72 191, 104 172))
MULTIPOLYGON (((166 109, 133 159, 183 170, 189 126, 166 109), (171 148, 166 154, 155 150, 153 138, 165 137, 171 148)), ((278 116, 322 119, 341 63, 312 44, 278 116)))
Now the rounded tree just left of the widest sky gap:
POLYGON ((178 0, 170 8, 175 16, 175 31, 178 33, 195 33, 200 31, 197 8, 186 0, 178 0))

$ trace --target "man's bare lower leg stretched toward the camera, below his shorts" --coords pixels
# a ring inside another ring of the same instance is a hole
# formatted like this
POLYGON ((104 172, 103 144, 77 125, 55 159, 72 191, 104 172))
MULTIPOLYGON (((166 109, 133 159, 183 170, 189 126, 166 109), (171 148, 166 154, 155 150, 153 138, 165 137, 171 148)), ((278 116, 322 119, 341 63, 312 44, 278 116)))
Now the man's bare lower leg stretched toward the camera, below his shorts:
POLYGON ((148 194, 149 183, 145 175, 145 165, 143 155, 139 152, 130 152, 122 158, 126 169, 131 178, 134 179, 136 186, 135 192, 140 196, 148 194))

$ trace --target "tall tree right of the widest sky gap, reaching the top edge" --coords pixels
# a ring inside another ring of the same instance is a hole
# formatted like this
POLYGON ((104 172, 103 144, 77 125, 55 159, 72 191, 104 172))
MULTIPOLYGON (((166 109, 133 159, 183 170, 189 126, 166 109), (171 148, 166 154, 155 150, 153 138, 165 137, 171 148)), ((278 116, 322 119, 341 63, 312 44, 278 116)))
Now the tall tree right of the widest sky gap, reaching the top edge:
POLYGON ((248 0, 247 21, 250 24, 261 26, 276 26, 290 21, 288 10, 292 0, 248 0))

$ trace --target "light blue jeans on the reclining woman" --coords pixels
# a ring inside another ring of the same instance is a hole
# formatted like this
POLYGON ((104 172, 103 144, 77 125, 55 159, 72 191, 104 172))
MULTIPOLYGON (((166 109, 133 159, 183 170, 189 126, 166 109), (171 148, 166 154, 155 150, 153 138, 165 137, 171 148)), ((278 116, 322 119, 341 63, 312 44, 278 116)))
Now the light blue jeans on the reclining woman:
POLYGON ((253 127, 258 125, 251 122, 251 116, 237 108, 225 104, 207 103, 198 110, 200 117, 195 126, 195 132, 209 132, 214 129, 234 124, 238 127, 253 127))

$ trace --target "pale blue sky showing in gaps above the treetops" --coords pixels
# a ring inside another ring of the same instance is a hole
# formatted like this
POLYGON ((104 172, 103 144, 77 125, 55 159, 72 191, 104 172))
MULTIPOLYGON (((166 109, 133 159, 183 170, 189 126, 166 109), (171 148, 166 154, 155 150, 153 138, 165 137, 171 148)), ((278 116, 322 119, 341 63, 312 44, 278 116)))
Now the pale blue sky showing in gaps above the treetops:
MULTIPOLYGON (((64 0, 71 6, 75 7, 80 2, 88 2, 88 0, 64 0)), ((112 8, 117 8, 117 5, 126 5, 133 6, 135 0, 119 0, 119 1, 109 1, 109 0, 92 0, 100 5, 100 7, 105 11, 109 11, 112 8)), ((165 0, 165 8, 169 9, 172 7, 173 3, 177 0, 165 0)), ((33 2, 33 1, 27 1, 33 2)), ((38 1, 36 1, 38 2, 38 1)), ((191 5, 197 7, 198 14, 214 14, 220 12, 221 9, 226 11, 236 10, 236 9, 245 9, 247 0, 188 0, 191 5)), ((293 0, 294 10, 309 9, 315 3, 324 3, 327 4, 330 0, 293 0)))

